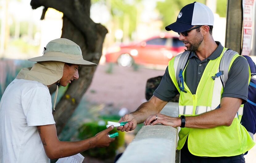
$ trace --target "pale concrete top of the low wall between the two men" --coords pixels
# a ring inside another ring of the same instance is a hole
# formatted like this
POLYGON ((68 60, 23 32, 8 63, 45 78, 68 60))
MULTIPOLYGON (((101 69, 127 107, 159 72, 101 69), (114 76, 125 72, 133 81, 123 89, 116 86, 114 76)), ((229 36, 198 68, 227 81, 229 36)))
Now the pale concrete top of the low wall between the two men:
MULTIPOLYGON (((169 102, 161 111, 178 116, 178 104, 169 102)), ((143 126, 117 163, 175 163, 177 129, 156 124, 143 126)))

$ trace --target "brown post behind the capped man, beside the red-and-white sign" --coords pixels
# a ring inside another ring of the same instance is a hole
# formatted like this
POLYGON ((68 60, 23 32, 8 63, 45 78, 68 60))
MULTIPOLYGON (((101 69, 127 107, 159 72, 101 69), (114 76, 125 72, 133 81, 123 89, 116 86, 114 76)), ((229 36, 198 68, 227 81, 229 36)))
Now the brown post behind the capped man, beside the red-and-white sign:
POLYGON ((228 0, 225 46, 241 54, 242 0, 228 0))

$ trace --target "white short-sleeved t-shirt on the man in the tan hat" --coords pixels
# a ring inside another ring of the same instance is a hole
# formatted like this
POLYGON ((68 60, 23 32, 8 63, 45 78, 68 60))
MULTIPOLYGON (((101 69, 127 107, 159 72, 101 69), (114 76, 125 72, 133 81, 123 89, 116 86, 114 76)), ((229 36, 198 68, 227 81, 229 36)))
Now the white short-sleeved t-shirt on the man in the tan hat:
POLYGON ((14 79, 0 102, 0 163, 49 163, 36 126, 55 124, 46 85, 14 79))

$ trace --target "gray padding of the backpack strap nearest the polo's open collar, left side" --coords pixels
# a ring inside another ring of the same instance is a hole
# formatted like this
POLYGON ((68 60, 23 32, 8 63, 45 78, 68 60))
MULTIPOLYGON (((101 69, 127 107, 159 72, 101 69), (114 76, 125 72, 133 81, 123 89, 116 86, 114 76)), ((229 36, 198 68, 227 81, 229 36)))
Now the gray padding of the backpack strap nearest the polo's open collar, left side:
MULTIPOLYGON (((180 81, 180 77, 179 77, 179 74, 180 74, 180 70, 184 70, 184 67, 186 66, 186 63, 188 61, 188 56, 190 54, 190 51, 184 51, 182 54, 180 54, 179 56, 179 61, 178 61, 178 65, 177 65, 177 69, 176 69, 176 72, 175 72, 175 77, 176 77, 176 80, 177 80, 177 83, 179 85, 179 87, 181 86, 181 82, 180 81)), ((182 83, 182 87, 184 87, 184 83, 182 83)), ((184 90, 184 88, 183 88, 184 90)))

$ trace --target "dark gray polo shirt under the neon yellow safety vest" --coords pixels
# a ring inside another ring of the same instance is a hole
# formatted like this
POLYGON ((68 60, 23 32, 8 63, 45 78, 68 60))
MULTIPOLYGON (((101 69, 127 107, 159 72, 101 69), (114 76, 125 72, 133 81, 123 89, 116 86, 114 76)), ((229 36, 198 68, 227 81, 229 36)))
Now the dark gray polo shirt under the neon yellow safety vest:
MULTIPOLYGON (((204 69, 210 60, 216 59, 221 55, 223 46, 217 42, 218 47, 213 53, 203 61, 201 61, 194 51, 189 56, 189 62, 184 72, 184 81, 187 84, 192 94, 196 94, 196 89, 199 81, 204 73, 204 69)), ((248 95, 249 68, 248 62, 244 57, 237 57, 230 67, 228 80, 223 90, 221 97, 235 97, 243 100, 242 104, 246 103, 248 95)), ((168 72, 168 67, 165 70, 163 78, 158 88, 153 93, 154 96, 163 100, 170 101, 179 91, 173 84, 168 72)))

